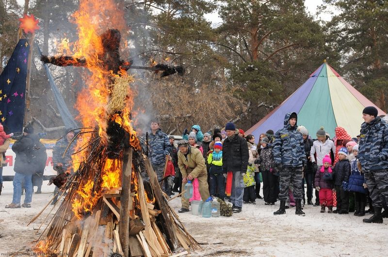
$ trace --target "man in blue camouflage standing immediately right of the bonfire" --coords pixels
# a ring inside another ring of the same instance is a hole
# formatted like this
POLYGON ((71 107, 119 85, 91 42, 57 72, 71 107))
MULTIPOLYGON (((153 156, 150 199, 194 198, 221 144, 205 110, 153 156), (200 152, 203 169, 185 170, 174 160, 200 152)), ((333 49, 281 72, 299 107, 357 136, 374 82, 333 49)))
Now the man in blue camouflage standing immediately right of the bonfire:
POLYGON ((159 128, 159 121, 151 121, 151 132, 148 135, 148 145, 152 168, 156 172, 158 181, 162 181, 166 155, 170 154, 171 144, 168 136, 159 128))

